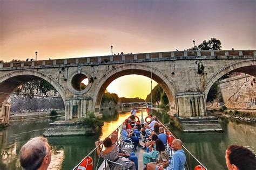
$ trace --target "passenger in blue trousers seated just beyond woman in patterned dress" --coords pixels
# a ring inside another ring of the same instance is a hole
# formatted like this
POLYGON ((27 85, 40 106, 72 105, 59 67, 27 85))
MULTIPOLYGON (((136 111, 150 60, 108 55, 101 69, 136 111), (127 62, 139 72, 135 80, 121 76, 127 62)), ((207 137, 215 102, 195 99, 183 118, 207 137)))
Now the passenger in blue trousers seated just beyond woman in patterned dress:
MULTIPOLYGON (((116 134, 111 134, 110 139, 112 141, 112 145, 116 145, 117 142, 117 135, 116 134)), ((125 157, 125 158, 129 158, 131 161, 134 162, 135 166, 136 166, 136 170, 138 170, 138 157, 132 152, 132 153, 128 153, 125 150, 122 150, 122 148, 118 148, 118 155, 121 157, 125 157)))

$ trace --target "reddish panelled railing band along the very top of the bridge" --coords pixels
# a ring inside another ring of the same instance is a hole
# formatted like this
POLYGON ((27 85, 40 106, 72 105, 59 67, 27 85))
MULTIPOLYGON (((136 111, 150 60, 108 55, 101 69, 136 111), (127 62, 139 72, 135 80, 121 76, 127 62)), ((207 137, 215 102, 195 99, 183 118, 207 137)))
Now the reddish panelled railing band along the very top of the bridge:
POLYGON ((86 58, 70 58, 56 60, 37 60, 37 61, 18 61, 18 62, 1 62, 0 68, 12 67, 33 67, 45 65, 76 65, 78 63, 107 63, 110 61, 124 60, 141 60, 157 59, 170 57, 187 57, 187 56, 256 56, 253 50, 218 50, 218 51, 173 51, 173 52, 156 52, 156 53, 138 53, 124 55, 107 55, 107 56, 90 56, 86 58))

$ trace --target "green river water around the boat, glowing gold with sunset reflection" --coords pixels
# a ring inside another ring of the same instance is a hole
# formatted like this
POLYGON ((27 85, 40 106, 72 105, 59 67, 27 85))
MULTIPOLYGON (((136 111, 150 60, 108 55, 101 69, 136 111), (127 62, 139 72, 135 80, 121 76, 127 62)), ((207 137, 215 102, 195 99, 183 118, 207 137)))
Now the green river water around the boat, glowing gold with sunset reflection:
MULTIPOLYGON (((51 169, 72 169, 95 147, 96 140, 104 139, 130 115, 117 110, 104 110, 102 113, 104 126, 95 136, 48 137, 52 147, 51 169)), ((169 122, 169 115, 164 110, 153 110, 153 115, 163 123, 169 122)), ((22 169, 18 161, 21 146, 30 138, 42 135, 51 122, 51 119, 12 122, 8 128, 0 130, 0 169, 22 169)), ((225 150, 228 145, 240 144, 255 150, 256 125, 227 118, 220 118, 220 122, 223 133, 183 133, 170 128, 208 169, 227 169, 225 150)))

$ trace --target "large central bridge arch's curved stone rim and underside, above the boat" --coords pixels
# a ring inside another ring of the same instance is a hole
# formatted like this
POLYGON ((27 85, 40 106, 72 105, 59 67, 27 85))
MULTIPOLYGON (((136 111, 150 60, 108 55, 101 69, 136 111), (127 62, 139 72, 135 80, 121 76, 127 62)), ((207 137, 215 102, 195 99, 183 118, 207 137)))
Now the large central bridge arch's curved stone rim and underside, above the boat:
POLYGON ((95 108, 99 107, 105 89, 113 80, 117 79, 118 77, 130 74, 138 74, 151 77, 151 72, 152 79, 164 89, 169 102, 174 102, 173 97, 177 94, 178 90, 174 86, 173 81, 170 80, 164 73, 161 73, 157 68, 131 63, 122 65, 120 67, 112 66, 112 68, 113 69, 104 74, 96 84, 97 88, 95 95, 93 96, 93 98, 96 98, 95 108))

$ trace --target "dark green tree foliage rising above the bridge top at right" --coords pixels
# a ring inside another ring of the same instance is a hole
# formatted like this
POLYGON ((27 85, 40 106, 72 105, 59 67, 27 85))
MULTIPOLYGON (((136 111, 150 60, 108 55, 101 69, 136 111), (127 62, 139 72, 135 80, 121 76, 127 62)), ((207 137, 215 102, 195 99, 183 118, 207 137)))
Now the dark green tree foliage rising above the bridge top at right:
POLYGON ((194 46, 187 49, 188 51, 197 51, 197 50, 221 50, 221 42, 217 38, 211 38, 210 40, 204 40, 200 45, 194 46))

